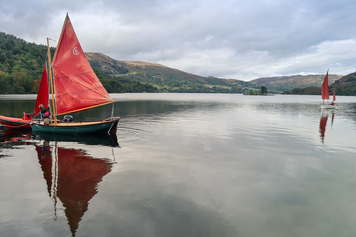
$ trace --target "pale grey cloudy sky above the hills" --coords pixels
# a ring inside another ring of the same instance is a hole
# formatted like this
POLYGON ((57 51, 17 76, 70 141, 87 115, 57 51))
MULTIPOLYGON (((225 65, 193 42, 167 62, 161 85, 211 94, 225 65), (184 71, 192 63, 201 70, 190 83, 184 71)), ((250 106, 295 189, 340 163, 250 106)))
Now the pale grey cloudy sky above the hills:
POLYGON ((356 71, 355 0, 0 3, 0 31, 27 42, 58 39, 68 12, 85 52, 200 76, 250 81, 356 71))

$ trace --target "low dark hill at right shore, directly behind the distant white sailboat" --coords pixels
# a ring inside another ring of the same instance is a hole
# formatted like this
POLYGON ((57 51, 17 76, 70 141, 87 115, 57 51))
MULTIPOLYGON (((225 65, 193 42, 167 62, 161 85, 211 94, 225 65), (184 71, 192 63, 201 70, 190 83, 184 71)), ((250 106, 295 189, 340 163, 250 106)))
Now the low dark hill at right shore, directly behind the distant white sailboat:
MULTIPOLYGON (((330 75, 329 75, 330 76, 330 75)), ((335 88, 336 95, 339 96, 356 96, 356 72, 347 74, 336 80, 333 84, 330 84, 329 78, 329 94, 331 95, 335 88)), ((285 91, 286 95, 321 95, 320 87, 305 87, 294 88, 290 91, 285 91)))

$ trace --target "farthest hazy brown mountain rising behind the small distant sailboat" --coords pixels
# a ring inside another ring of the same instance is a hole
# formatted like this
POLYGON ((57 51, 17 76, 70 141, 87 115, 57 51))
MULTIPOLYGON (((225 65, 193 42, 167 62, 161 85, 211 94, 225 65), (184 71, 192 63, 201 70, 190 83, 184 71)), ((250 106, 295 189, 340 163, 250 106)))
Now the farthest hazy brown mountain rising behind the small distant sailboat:
MULTIPOLYGON (((339 80, 343 75, 329 74, 329 85, 339 80)), ((249 81, 256 86, 265 86, 269 90, 289 91, 293 88, 305 88, 310 86, 321 86, 325 75, 295 75, 280 77, 261 77, 249 81)))

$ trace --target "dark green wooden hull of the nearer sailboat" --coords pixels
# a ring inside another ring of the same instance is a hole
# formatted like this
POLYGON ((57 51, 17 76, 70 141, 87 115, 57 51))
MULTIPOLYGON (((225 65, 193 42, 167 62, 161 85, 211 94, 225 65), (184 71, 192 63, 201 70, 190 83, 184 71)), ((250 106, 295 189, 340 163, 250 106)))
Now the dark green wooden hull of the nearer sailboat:
POLYGON ((66 123, 65 125, 48 125, 43 123, 32 123, 32 131, 56 133, 56 134, 86 134, 86 133, 108 133, 112 126, 117 125, 117 119, 112 121, 92 121, 91 124, 85 124, 87 122, 73 122, 66 123), (83 123, 83 124, 82 124, 83 123))

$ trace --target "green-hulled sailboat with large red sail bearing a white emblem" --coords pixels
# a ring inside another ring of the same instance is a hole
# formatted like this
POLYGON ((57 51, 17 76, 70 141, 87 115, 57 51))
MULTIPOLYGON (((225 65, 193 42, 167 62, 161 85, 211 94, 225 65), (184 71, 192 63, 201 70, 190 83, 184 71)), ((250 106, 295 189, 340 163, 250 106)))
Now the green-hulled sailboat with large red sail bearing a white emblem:
MULTIPOLYGON (((105 90, 85 57, 68 13, 52 62, 48 40, 47 38, 53 119, 51 124, 45 124, 43 121, 31 123, 32 131, 56 134, 97 132, 116 134, 117 123, 121 117, 112 117, 111 115, 111 118, 105 120, 80 122, 73 122, 72 119, 57 119, 59 115, 75 113, 115 101, 105 90)), ((46 90, 42 92, 41 88, 38 93, 47 93, 48 96, 48 92, 46 90)))

